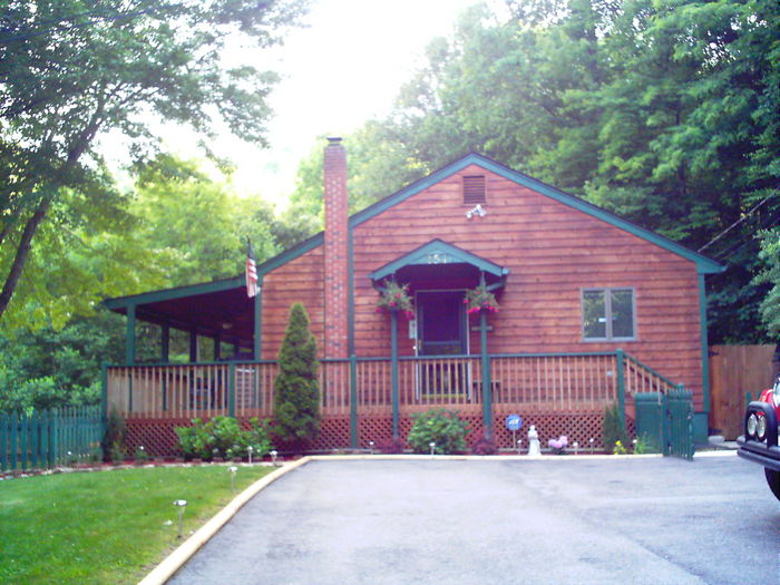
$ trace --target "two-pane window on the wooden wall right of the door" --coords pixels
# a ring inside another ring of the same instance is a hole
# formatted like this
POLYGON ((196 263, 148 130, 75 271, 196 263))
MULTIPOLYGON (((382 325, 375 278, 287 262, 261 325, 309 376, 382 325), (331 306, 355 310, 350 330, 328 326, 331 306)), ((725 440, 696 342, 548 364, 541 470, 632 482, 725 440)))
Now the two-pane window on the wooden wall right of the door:
POLYGON ((583 338, 586 341, 634 339, 634 314, 633 289, 583 291, 583 338))

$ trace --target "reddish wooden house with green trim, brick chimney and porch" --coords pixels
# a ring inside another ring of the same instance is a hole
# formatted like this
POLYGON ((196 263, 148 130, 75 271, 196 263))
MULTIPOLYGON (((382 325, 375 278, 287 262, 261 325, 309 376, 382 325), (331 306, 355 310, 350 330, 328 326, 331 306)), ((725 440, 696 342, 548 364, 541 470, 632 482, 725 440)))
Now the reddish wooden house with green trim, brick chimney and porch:
POLYGON ((133 445, 169 450, 173 427, 196 416, 271 417, 293 302, 321 357, 313 449, 403 438, 432 407, 504 448, 511 413, 543 439, 598 445, 606 404, 631 428, 636 392, 680 384, 705 437, 704 276, 718 263, 477 154, 352 216, 340 139, 324 165, 324 232, 260 264, 255 298, 242 275, 106 301, 127 315, 126 363, 106 369, 105 387, 133 445), (377 310, 392 283, 408 285, 411 315, 377 310), (498 311, 466 311, 480 285, 498 311), (138 320, 162 328, 159 363, 136 361, 138 320), (189 332, 191 363, 168 363, 172 328, 189 332))

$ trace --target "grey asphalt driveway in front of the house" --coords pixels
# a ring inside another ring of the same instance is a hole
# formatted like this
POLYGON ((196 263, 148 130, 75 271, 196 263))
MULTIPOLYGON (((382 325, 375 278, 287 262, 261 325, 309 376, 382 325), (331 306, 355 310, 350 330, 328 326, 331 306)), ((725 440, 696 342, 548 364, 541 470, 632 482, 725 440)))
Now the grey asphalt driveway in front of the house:
POLYGON ((780 584, 780 503, 735 455, 314 461, 170 583, 780 584))

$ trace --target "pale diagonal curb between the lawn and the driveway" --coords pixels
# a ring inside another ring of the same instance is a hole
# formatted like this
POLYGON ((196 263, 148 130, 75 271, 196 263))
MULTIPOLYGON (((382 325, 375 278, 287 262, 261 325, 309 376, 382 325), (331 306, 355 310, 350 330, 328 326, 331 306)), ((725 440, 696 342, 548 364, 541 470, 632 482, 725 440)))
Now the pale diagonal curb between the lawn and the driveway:
POLYGON ((157 565, 140 582, 138 582, 138 585, 163 585, 166 583, 187 560, 189 560, 195 553, 199 550, 203 545, 205 545, 212 538, 212 536, 214 536, 225 524, 227 524, 248 500, 283 475, 294 471, 309 461, 311 461, 311 457, 302 457, 301 459, 298 459, 291 464, 284 464, 283 467, 272 471, 267 476, 252 484, 244 491, 233 498, 233 500, 227 506, 222 508, 214 517, 206 521, 206 524, 201 526, 195 534, 182 543, 173 553, 165 557, 159 565, 157 565))

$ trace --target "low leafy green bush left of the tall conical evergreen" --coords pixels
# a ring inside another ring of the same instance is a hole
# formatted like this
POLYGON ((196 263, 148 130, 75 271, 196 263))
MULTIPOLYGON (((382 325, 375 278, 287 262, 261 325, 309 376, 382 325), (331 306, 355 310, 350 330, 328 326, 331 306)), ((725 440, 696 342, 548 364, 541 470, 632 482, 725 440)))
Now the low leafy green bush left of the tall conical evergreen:
POLYGON ((246 457, 248 447, 260 458, 271 449, 266 422, 261 423, 257 418, 253 418, 250 421, 251 429, 242 430, 236 419, 218 416, 208 422, 193 419, 191 427, 176 427, 174 431, 186 459, 246 457))

